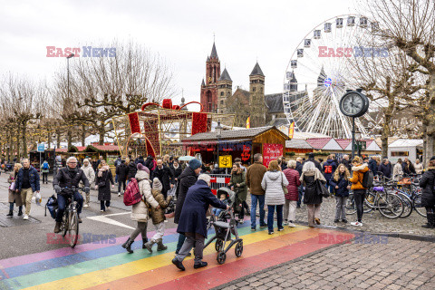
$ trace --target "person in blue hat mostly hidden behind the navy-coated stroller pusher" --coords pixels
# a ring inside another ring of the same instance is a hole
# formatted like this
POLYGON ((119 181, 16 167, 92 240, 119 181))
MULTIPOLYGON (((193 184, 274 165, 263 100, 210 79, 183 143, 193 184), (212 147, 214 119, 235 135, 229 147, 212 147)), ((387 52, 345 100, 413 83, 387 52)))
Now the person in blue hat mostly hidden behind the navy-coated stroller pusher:
MULTIPOLYGON (((177 205, 175 208, 174 223, 179 223, 179 217, 181 216, 181 210, 184 206, 184 200, 188 193, 189 188, 194 185, 198 180, 199 172, 201 172, 201 162, 199 160, 190 160, 189 167, 184 169, 184 171, 179 176, 179 182, 177 183, 177 191, 175 195, 177 196, 177 205)), ((179 254, 179 249, 183 246, 186 236, 179 234, 179 243, 177 244, 176 254, 179 254)))

